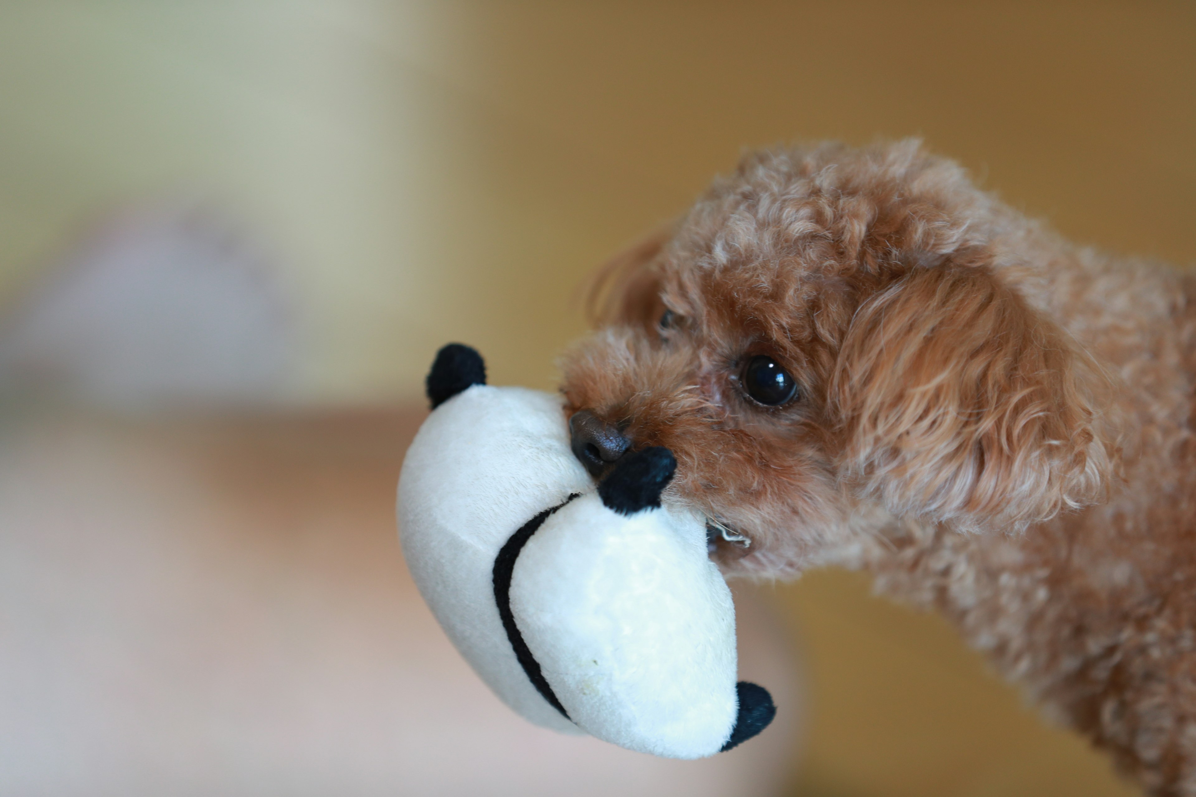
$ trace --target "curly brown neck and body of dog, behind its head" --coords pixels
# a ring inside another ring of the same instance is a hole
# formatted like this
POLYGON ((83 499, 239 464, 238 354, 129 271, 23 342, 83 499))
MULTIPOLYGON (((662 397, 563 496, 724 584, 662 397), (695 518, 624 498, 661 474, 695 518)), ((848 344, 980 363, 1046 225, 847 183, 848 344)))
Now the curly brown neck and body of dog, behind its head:
POLYGON ((1019 534, 861 513, 820 563, 945 614, 1051 717, 1172 793, 1196 756, 1178 731, 1196 727, 1196 282, 1141 264, 1068 277, 1055 288, 1075 293, 1051 304, 1117 380, 1125 417, 1107 501, 1019 534))

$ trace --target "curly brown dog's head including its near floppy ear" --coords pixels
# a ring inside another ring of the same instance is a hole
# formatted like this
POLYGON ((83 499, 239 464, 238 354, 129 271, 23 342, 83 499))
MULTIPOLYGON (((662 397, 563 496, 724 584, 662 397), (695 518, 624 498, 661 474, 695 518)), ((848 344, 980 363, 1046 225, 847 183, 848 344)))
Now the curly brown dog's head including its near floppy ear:
POLYGON ((562 362, 574 452, 600 477, 666 446, 673 497, 751 544, 724 565, 774 575, 877 522, 1092 503, 1116 442, 1055 320, 1064 251, 916 142, 750 155, 608 269, 562 362))

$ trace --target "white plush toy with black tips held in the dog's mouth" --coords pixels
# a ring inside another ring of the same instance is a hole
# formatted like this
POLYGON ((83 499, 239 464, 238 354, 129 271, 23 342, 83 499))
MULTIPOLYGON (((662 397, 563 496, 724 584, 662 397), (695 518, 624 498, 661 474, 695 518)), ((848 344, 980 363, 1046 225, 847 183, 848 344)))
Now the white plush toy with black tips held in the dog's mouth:
POLYGON ((666 448, 594 485, 561 400, 488 387, 451 344, 398 484, 407 565, 477 674, 539 725, 677 759, 726 750, 776 710, 736 682, 734 606, 703 519, 661 505, 666 448))

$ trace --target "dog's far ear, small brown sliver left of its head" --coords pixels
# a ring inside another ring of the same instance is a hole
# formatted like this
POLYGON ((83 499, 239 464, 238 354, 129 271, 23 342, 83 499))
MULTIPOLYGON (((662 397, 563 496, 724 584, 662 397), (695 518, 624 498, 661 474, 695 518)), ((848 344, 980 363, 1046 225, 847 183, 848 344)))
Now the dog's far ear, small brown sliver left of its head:
POLYGON ((664 304, 652 265, 675 231, 675 222, 660 225, 598 269, 586 290, 586 315, 594 326, 655 329, 664 304))

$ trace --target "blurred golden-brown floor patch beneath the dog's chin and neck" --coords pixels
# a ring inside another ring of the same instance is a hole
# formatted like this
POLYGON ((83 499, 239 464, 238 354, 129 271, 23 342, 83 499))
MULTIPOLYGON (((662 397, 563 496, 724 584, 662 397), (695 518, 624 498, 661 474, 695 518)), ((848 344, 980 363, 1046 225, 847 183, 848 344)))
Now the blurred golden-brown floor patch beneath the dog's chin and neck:
POLYGON ((817 571, 771 594, 801 640, 805 797, 1128 797, 1140 793, 964 648, 947 623, 817 571))

